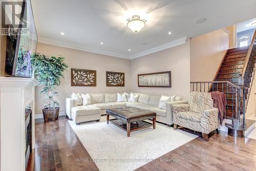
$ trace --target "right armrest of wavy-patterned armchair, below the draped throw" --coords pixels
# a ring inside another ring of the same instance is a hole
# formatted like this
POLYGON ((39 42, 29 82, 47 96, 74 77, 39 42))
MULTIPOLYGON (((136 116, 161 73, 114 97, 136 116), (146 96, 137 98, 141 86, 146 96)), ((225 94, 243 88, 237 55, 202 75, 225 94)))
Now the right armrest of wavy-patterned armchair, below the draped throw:
POLYGON ((201 118, 202 133, 209 134, 218 128, 218 113, 217 108, 205 110, 201 118))

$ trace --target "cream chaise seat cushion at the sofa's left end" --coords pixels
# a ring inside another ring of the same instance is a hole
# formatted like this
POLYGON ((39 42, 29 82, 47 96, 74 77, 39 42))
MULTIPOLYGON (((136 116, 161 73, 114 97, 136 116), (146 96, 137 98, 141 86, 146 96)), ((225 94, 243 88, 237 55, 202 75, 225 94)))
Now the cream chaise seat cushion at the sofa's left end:
POLYGON ((84 116, 84 115, 94 115, 94 114, 100 114, 100 108, 94 106, 94 105, 79 105, 75 106, 71 109, 72 114, 75 116, 84 116))

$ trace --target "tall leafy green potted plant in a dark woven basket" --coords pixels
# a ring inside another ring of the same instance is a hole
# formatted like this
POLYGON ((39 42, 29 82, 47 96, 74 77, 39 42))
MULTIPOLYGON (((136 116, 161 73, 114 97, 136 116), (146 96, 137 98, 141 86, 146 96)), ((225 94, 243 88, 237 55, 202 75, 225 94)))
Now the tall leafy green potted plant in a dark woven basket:
POLYGON ((45 56, 44 54, 33 55, 34 76, 39 81, 38 86, 43 86, 39 94, 45 94, 48 104, 44 105, 42 114, 44 120, 57 120, 59 115, 59 103, 54 99, 57 92, 54 89, 60 85, 63 72, 68 68, 64 57, 45 56))

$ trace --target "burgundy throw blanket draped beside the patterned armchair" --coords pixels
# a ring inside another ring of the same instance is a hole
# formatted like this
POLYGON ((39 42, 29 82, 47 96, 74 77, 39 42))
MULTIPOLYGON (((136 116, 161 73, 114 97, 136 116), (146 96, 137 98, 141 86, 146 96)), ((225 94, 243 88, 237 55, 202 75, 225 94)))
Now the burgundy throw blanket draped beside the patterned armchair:
POLYGON ((210 92, 211 98, 214 100, 214 106, 219 109, 219 120, 220 124, 222 125, 222 122, 224 120, 224 117, 226 116, 226 96, 222 92, 210 92))

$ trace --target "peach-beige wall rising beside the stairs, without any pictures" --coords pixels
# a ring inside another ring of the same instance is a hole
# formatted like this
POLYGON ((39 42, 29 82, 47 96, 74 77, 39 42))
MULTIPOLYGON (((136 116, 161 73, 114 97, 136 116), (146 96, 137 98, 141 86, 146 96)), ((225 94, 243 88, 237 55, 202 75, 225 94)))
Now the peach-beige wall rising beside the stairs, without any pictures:
POLYGON ((212 81, 229 46, 223 29, 190 40, 190 81, 212 81))

